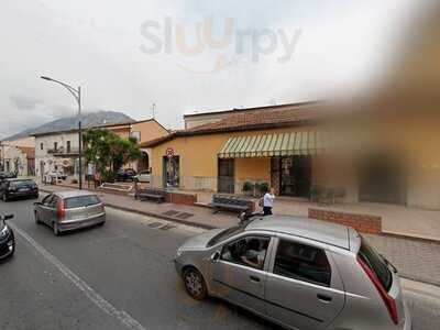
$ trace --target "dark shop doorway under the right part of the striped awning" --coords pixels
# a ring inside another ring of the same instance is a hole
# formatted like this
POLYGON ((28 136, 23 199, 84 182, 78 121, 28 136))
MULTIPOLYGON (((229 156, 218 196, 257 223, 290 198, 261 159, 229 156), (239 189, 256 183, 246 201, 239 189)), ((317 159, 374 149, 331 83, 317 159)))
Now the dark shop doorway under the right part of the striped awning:
POLYGON ((279 160, 283 196, 309 198, 311 185, 311 157, 289 156, 279 160))

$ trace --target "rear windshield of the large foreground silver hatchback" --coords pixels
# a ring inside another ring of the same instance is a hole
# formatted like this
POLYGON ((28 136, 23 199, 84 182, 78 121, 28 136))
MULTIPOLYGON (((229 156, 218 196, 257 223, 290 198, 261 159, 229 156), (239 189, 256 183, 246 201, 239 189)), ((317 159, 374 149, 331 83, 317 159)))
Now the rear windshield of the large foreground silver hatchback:
POLYGON ((386 261, 378 254, 363 238, 361 239, 361 249, 359 255, 370 268, 376 274, 382 286, 389 292, 393 285, 393 274, 386 264, 386 261))

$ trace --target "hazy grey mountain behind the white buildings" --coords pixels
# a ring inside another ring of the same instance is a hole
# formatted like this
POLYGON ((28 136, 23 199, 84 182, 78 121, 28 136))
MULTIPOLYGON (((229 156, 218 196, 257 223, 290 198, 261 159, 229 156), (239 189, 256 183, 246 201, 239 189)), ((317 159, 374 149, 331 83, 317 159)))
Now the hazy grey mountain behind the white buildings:
MULTIPOLYGON (((81 124, 84 128, 90 128, 102 124, 113 124, 123 122, 133 122, 134 120, 122 112, 117 111, 97 111, 88 112, 80 116, 81 124)), ((26 138, 31 134, 47 133, 47 132, 61 132, 74 130, 78 127, 77 117, 67 117, 51 121, 48 123, 42 124, 37 128, 24 130, 12 136, 2 139, 3 141, 12 141, 22 138, 26 138)))

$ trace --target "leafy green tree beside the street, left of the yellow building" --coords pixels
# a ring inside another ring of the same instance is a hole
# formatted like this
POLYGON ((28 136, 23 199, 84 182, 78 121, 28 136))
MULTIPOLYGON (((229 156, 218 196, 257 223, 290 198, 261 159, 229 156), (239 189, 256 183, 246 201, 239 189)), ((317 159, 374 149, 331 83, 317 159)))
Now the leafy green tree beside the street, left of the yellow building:
POLYGON ((124 139, 109 130, 88 130, 84 133, 82 140, 86 162, 95 164, 103 174, 103 178, 114 177, 123 164, 142 157, 135 139, 124 139))

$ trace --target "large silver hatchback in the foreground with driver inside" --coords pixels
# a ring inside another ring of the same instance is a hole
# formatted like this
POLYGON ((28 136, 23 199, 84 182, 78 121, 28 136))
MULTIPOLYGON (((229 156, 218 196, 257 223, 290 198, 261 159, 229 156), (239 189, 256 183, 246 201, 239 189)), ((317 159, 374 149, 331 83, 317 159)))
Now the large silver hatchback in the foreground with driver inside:
POLYGON ((195 299, 226 299, 288 329, 411 329, 396 270, 354 230, 258 218, 182 245, 177 274, 195 299))

